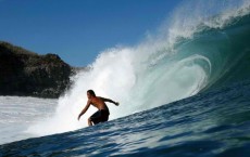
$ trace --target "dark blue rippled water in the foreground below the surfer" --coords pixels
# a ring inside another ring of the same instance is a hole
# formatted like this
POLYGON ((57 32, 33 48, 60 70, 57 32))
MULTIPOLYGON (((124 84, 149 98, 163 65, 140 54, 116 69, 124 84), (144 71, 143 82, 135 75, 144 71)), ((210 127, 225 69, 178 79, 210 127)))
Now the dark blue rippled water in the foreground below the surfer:
POLYGON ((3 144, 0 156, 247 157, 250 81, 66 133, 3 144))

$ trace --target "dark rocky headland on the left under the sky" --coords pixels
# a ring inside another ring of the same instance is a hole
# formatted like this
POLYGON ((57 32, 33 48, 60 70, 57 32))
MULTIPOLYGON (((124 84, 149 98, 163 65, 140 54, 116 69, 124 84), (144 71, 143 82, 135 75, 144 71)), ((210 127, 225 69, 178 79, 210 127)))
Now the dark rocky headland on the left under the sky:
POLYGON ((0 95, 59 97, 73 71, 57 54, 38 55, 0 42, 0 95))

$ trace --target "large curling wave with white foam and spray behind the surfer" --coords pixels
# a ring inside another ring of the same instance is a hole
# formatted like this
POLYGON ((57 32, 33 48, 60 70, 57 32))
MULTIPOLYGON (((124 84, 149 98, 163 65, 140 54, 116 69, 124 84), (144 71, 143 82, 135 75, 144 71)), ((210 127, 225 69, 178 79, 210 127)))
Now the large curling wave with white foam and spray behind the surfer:
POLYGON ((73 77, 74 86, 60 97, 54 116, 27 132, 45 135, 86 127, 96 108, 80 121, 77 116, 89 89, 121 103, 108 104, 114 119, 248 78, 249 12, 249 1, 182 3, 160 35, 136 47, 101 52, 89 71, 73 77))

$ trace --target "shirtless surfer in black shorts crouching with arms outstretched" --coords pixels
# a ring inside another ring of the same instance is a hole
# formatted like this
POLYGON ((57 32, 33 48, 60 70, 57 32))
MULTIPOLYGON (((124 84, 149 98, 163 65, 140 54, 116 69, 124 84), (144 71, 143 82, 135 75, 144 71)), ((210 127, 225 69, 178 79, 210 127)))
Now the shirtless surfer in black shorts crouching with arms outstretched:
POLYGON ((88 126, 92 126, 92 123, 97 125, 99 122, 104 122, 104 121, 109 120, 110 112, 109 112, 108 106, 105 105, 105 102, 110 102, 110 103, 113 103, 116 106, 118 106, 117 102, 114 102, 114 101, 109 100, 109 99, 96 96, 96 94, 92 90, 87 91, 87 96, 88 96, 87 105, 80 112, 80 114, 78 116, 78 120, 79 120, 80 116, 83 116, 88 110, 90 105, 93 105, 95 107, 98 108, 98 112, 88 118, 88 126))

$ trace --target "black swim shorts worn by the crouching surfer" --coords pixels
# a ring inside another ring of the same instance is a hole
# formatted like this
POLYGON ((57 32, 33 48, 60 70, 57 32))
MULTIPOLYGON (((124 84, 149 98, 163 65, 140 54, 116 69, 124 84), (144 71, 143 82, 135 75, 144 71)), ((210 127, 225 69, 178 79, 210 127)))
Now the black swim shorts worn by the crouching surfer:
POLYGON ((97 113, 95 113, 91 117, 90 117, 90 120, 97 125, 99 122, 104 122, 104 121, 108 121, 109 120, 109 115, 110 115, 110 112, 109 110, 104 110, 104 109, 101 109, 101 110, 98 110, 97 113))

